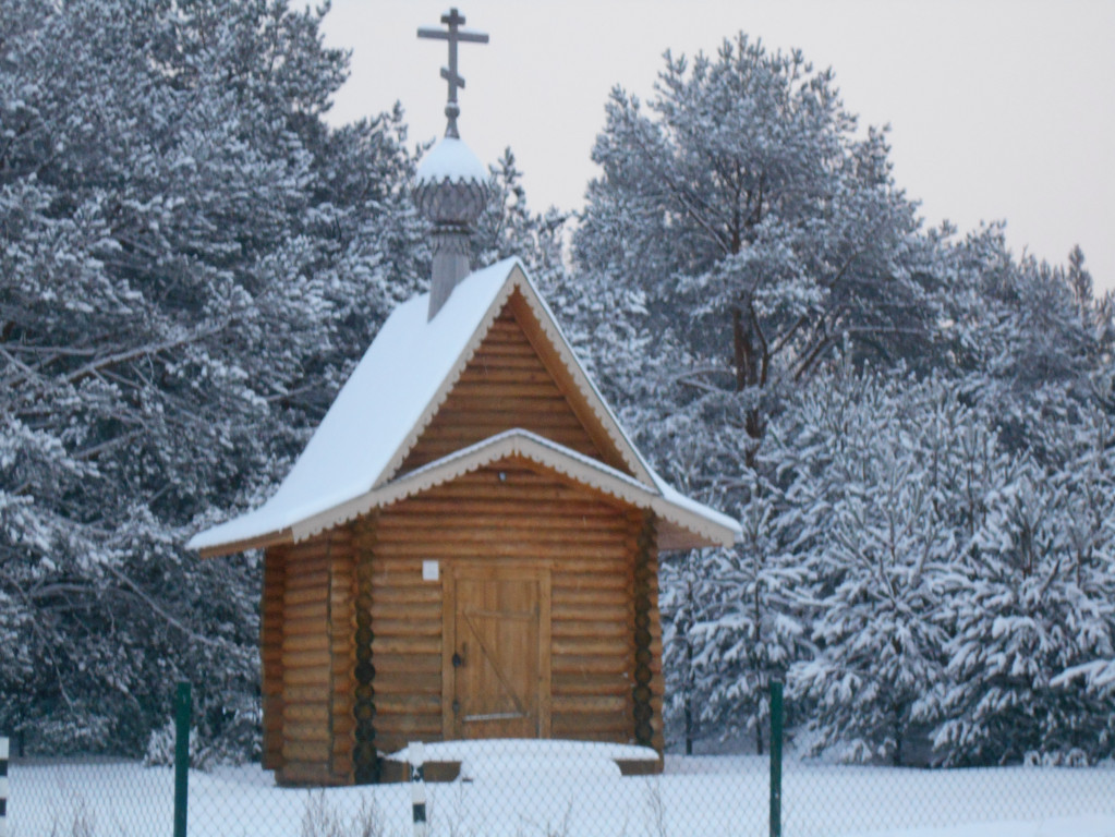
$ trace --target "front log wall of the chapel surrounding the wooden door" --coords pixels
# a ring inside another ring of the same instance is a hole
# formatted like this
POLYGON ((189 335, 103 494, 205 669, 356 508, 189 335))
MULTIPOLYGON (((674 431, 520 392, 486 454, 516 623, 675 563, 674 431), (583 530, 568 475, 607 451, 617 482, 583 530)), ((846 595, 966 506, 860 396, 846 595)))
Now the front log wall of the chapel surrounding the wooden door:
MULTIPOLYGON (((641 514, 521 460, 493 464, 380 510, 358 543, 360 561, 372 567, 380 750, 445 737, 445 662, 453 650, 443 645, 443 596, 457 575, 482 568, 545 575, 551 598, 542 734, 633 741, 634 570, 643 527, 641 514), (437 582, 423 578, 424 559, 438 562, 437 582)), ((644 593, 653 603, 647 619, 660 649, 652 587, 650 582, 644 593)), ((652 675, 659 682, 650 723, 660 742, 660 666, 652 675)))

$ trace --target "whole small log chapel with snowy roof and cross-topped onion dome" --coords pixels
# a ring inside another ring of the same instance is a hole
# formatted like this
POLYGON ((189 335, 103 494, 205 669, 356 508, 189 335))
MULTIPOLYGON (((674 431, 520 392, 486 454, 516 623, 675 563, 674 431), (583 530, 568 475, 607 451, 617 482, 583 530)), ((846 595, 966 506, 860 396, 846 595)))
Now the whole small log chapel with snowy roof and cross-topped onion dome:
POLYGON ((443 22, 453 130, 415 187, 430 293, 388 318, 274 496, 190 542, 264 551, 281 785, 389 780, 411 740, 638 743, 660 768, 658 555, 739 536, 640 456, 517 260, 469 271, 487 173, 456 136, 469 33, 443 22))

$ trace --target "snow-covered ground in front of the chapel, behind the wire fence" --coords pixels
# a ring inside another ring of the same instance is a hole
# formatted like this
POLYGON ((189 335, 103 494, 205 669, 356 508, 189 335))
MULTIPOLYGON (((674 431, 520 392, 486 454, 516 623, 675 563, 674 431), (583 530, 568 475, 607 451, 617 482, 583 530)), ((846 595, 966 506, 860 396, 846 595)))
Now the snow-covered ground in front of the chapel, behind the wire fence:
MULTIPOLYGON (((427 758, 466 780, 427 786, 432 837, 767 837, 768 762, 668 757, 621 777, 608 747, 484 742, 427 758)), ((169 835, 174 779, 134 762, 12 765, 10 837, 169 835)), ((410 788, 281 789, 254 767, 190 776, 192 837, 409 836, 410 788)), ((784 769, 786 837, 1115 837, 1115 768, 784 769)))

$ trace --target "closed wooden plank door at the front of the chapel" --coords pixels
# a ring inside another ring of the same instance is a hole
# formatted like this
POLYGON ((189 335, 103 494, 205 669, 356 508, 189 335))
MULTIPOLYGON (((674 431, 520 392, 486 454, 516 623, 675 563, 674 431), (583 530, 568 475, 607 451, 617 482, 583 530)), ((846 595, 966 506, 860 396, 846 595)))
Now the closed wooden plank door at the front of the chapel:
POLYGON ((549 585, 537 574, 455 574, 446 624, 447 738, 549 734, 549 585))

